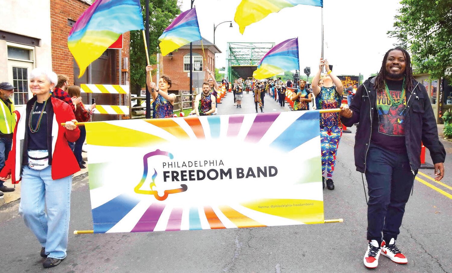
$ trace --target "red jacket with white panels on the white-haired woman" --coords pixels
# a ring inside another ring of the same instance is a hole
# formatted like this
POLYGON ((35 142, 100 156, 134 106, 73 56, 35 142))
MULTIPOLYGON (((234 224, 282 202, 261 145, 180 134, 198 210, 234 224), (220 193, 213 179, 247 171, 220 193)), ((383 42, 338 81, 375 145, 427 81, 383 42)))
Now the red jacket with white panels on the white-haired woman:
MULTIPOLYGON (((5 162, 5 167, 0 172, 0 177, 6 177, 11 174, 11 180, 13 184, 18 184, 21 180, 21 172, 23 166, 23 154, 24 147, 20 145, 21 141, 24 143, 25 134, 28 132, 27 108, 29 108, 36 97, 33 97, 27 103, 27 107, 24 107, 22 113, 14 111, 16 113, 17 124, 14 128, 13 134, 13 147, 8 155, 8 160, 5 162), (29 106, 30 105, 30 106, 29 106)), ((61 123, 66 121, 75 120, 74 112, 71 106, 66 102, 63 102, 57 98, 51 97, 53 107, 53 120, 47 122, 47 126, 51 127, 52 135, 48 136, 52 147, 49 147, 49 151, 52 150, 51 157, 49 157, 49 164, 52 165, 52 179, 61 179, 66 176, 70 176, 77 171, 80 171, 79 164, 75 159, 74 153, 69 148, 68 141, 75 142, 80 136, 79 128, 75 130, 67 130, 61 126, 61 123), (53 136, 53 139, 52 139, 53 136)))

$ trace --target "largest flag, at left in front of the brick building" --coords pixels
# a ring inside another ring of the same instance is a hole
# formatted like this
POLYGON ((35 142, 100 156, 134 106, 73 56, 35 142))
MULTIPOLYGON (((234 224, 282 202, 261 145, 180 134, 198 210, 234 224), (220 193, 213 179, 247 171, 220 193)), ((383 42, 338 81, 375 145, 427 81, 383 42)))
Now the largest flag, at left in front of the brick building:
POLYGON ((143 29, 140 0, 97 0, 72 27, 67 46, 79 65, 79 78, 123 33, 143 29))

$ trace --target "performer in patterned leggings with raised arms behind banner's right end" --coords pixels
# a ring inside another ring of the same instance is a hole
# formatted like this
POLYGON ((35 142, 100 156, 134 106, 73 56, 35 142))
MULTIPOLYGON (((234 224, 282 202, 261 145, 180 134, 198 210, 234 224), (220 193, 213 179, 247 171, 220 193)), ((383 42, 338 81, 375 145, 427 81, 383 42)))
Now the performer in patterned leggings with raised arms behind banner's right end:
MULTIPOLYGON (((341 106, 344 86, 340 79, 333 74, 328 60, 320 58, 319 70, 312 79, 312 93, 315 95, 317 110, 335 109, 341 106), (323 77, 323 86, 320 88, 320 73, 325 66, 326 74, 323 77)), ((322 151, 322 182, 328 190, 334 190, 333 171, 336 164, 336 155, 339 148, 339 140, 342 136, 342 122, 339 113, 320 114, 320 147, 322 151)))

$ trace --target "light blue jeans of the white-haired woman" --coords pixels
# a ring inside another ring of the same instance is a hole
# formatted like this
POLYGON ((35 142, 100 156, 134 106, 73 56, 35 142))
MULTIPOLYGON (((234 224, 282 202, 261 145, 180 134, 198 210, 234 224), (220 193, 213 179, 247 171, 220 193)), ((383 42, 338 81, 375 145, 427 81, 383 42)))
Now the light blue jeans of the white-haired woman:
POLYGON ((52 166, 41 171, 22 167, 19 214, 49 258, 66 258, 71 188, 72 176, 52 180, 52 166))

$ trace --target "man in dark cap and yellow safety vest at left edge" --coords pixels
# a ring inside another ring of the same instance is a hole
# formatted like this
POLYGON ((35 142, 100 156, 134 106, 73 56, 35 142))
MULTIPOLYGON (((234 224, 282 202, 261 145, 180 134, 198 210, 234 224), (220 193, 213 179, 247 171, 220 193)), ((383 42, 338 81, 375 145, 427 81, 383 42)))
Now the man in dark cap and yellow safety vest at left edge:
MULTIPOLYGON (((16 125, 14 112, 14 87, 11 83, 0 83, 0 171, 5 166, 5 160, 8 159, 11 144, 13 142, 14 126, 16 125)), ((0 196, 4 192, 12 192, 14 188, 3 185, 0 180, 0 196)))

